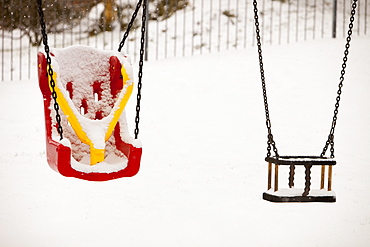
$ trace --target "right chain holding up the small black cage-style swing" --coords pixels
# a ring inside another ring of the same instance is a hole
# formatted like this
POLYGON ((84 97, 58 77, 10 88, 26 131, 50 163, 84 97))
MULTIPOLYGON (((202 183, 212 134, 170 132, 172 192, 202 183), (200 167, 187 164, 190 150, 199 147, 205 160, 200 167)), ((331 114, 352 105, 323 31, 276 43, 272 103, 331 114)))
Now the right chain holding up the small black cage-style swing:
POLYGON ((357 7, 357 0, 353 0, 352 1, 352 11, 351 11, 350 23, 348 25, 348 32, 347 32, 348 36, 347 36, 347 39, 346 39, 347 43, 345 45, 344 57, 343 57, 343 63, 342 63, 342 70, 340 72, 337 98, 336 98, 336 102, 335 102, 333 121, 332 121, 332 124, 331 124, 331 129, 330 129, 328 139, 325 143, 323 151, 321 152, 321 157, 325 156, 325 153, 326 153, 329 145, 330 145, 330 157, 331 158, 335 157, 334 156, 334 131, 335 131, 335 126, 337 125, 339 102, 340 102, 340 99, 341 99, 340 96, 342 94, 344 74, 346 73, 349 47, 350 47, 352 29, 353 29, 353 22, 355 20, 355 14, 356 14, 356 7, 357 7))

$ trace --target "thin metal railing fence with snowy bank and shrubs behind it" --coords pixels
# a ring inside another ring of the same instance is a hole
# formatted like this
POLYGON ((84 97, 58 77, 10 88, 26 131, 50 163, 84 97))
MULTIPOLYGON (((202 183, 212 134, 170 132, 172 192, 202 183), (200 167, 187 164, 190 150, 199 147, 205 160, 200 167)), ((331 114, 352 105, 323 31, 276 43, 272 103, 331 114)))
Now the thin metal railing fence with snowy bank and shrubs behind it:
MULTIPOLYGON (((0 80, 36 73, 40 32, 33 0, 0 0, 0 80), (36 45, 35 45, 36 44, 36 45)), ((118 48, 136 0, 44 0, 52 47, 118 48), (110 18, 110 19, 107 19, 110 18)), ((370 32, 370 0, 359 0, 354 33, 370 32)), ((345 37, 349 0, 259 0, 262 40, 282 44, 345 37)), ((149 0, 147 59, 192 56, 254 45, 252 0, 149 0)), ((139 55, 140 19, 125 52, 139 55)))

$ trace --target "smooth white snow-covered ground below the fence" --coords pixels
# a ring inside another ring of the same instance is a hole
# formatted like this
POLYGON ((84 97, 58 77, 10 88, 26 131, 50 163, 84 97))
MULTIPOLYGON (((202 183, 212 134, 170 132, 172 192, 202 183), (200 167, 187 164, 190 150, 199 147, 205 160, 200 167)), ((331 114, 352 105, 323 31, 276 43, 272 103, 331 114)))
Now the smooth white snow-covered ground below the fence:
MULTIPOLYGON (((343 39, 264 47, 280 154, 320 154, 343 50, 343 39)), ((1 82, 0 246, 369 246, 369 64, 370 36, 355 36, 330 204, 262 200, 267 132, 255 47, 146 63, 142 167, 108 182, 48 167, 36 73, 1 82)))

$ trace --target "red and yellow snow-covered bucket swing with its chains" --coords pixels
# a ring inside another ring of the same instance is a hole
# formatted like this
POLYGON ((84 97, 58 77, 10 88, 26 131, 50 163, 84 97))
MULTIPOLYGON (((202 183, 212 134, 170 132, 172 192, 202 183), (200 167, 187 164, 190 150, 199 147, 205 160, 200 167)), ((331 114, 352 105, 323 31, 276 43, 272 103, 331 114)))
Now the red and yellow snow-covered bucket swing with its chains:
POLYGON ((45 52, 38 53, 38 76, 44 98, 49 166, 63 176, 89 181, 136 175, 142 153, 137 137, 147 1, 138 1, 118 51, 102 51, 82 45, 50 49, 42 0, 37 0, 37 4, 45 49, 45 52), (121 53, 121 49, 141 5, 143 15, 133 138, 128 134, 124 112, 133 91, 133 71, 130 59, 121 53))

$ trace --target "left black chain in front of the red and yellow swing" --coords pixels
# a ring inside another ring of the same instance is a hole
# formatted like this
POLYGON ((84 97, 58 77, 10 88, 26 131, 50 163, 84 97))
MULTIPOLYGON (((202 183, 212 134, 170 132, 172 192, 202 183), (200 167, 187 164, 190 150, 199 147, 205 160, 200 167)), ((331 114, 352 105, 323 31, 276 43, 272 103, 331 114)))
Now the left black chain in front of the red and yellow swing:
POLYGON ((39 12, 39 17, 40 17, 40 25, 41 25, 41 33, 42 33, 42 42, 44 44, 44 49, 46 53, 46 61, 48 64, 48 76, 50 76, 50 87, 51 87, 51 96, 54 100, 54 110, 55 110, 55 118, 58 123, 57 130, 60 135, 60 140, 63 139, 63 128, 61 124, 61 117, 59 114, 59 105, 57 102, 57 93, 55 92, 55 81, 53 78, 54 71, 51 68, 51 58, 50 58, 50 48, 48 45, 48 36, 46 34, 46 25, 45 25, 45 17, 44 17, 44 11, 42 9, 42 0, 37 0, 37 5, 38 5, 38 12, 39 12))

